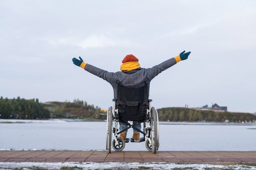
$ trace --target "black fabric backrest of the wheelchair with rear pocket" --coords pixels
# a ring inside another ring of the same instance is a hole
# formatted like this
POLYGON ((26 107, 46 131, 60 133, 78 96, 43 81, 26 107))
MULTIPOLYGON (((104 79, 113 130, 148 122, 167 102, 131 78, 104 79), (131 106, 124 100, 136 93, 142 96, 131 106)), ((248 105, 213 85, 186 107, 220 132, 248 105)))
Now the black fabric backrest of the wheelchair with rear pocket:
POLYGON ((121 86, 118 82, 116 108, 121 119, 144 119, 149 109, 148 82, 142 87, 121 86))

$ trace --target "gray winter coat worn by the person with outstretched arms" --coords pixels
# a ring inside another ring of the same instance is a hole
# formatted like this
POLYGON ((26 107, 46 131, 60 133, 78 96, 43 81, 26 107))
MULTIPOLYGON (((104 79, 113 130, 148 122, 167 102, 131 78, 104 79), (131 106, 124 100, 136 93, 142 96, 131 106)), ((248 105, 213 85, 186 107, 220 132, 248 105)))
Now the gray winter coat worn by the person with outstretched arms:
MULTIPOLYGON (((145 82, 150 83, 150 81, 155 76, 157 76, 159 73, 166 70, 167 68, 170 68, 175 64, 176 64, 176 60, 174 58, 171 58, 152 68, 137 68, 135 70, 126 71, 126 72, 122 72, 122 71, 118 71, 115 73, 108 72, 106 70, 102 70, 90 64, 85 65, 85 70, 110 83, 114 90, 114 98, 117 99, 117 82, 120 82, 121 86, 142 87, 142 86, 145 86, 145 82)), ((148 84, 148 93, 149 93, 149 84, 148 84)))

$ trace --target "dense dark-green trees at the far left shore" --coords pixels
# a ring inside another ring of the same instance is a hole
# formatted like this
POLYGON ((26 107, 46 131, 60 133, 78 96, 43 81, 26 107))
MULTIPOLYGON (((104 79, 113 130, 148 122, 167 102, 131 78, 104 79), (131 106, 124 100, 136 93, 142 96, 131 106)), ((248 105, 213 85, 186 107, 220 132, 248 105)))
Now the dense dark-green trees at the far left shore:
POLYGON ((48 119, 49 110, 38 99, 0 98, 0 119, 48 119))

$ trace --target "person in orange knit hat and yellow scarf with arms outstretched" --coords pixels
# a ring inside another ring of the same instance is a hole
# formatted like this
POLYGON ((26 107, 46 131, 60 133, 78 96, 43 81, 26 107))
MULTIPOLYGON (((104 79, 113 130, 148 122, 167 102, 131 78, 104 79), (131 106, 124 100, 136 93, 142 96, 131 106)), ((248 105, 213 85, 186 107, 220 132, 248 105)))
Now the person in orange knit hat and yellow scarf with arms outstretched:
MULTIPOLYGON (((79 56, 79 59, 73 58, 72 61, 76 66, 82 67, 84 70, 94 74, 95 76, 98 76, 104 80, 106 80, 108 83, 111 84, 114 91, 114 99, 118 98, 118 87, 143 87, 145 86, 145 82, 148 84, 146 85, 147 89, 147 97, 149 96, 149 83, 150 81, 156 77, 159 73, 166 70, 167 68, 170 68, 171 66, 175 65, 177 62, 186 60, 191 52, 185 53, 185 50, 180 53, 180 55, 173 57, 169 60, 166 60, 162 62, 159 65, 156 65, 151 68, 142 68, 139 64, 139 59, 135 57, 134 55, 130 54, 124 57, 122 61, 122 65, 120 67, 121 71, 118 72, 108 72, 106 70, 102 70, 100 68, 97 68, 95 66, 92 66, 90 64, 86 64, 82 58, 79 56)), ((132 119, 131 119, 132 120, 132 119)), ((128 120, 124 120, 127 121, 128 120)), ((137 121, 133 121, 133 124, 137 121)), ((120 131, 124 130, 127 127, 126 124, 123 122, 119 122, 119 128, 120 131)), ((141 123, 136 124, 134 127, 141 129, 141 123)), ((126 141, 126 134, 127 131, 124 131, 120 133, 121 138, 126 141)), ((140 132, 135 130, 133 128, 133 136, 134 142, 140 141, 140 132)))

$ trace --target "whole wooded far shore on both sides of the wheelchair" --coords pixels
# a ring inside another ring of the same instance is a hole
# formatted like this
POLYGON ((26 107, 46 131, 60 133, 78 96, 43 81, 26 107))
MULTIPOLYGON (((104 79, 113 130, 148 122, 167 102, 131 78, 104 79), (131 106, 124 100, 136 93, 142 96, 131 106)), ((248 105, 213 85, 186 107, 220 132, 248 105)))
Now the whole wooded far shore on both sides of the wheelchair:
MULTIPOLYGON (((256 115, 250 113, 231 113, 228 111, 195 110, 189 108, 161 108, 159 121, 215 121, 250 122, 256 115)), ((49 118, 93 118, 106 119, 106 111, 90 105, 83 100, 73 102, 39 103, 38 99, 0 98, 0 119, 49 119, 49 118)))

